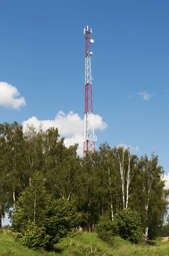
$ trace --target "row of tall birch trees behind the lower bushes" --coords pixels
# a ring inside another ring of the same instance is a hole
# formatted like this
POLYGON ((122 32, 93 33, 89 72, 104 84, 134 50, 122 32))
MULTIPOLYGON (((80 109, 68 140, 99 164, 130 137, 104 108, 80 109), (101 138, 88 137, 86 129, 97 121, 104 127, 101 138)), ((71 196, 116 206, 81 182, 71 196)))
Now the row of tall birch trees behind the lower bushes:
POLYGON ((53 198, 74 201, 79 225, 87 230, 105 212, 113 220, 117 211, 130 208, 141 217, 145 241, 158 236, 169 194, 158 156, 152 152, 138 158, 129 148, 102 143, 83 160, 77 148, 78 144, 65 147, 54 127, 43 131, 41 126, 28 125, 23 131, 16 121, 0 124, 0 227, 39 173, 53 198))

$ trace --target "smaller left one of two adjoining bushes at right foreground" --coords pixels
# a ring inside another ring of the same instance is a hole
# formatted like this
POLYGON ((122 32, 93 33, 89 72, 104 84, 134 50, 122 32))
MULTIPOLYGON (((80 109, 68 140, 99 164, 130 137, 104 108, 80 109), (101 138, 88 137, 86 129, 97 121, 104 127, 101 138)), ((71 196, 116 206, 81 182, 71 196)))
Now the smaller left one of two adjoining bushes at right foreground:
POLYGON ((110 219, 110 213, 108 211, 99 218, 96 231, 100 239, 113 244, 115 236, 118 234, 118 226, 116 221, 110 219))

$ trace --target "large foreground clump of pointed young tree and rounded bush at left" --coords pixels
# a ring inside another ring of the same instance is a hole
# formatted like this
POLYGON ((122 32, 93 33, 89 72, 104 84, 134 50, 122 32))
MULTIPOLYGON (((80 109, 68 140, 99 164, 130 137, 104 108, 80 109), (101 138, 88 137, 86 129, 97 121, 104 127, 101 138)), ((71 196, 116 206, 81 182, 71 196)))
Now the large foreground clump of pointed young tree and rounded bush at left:
POLYGON ((70 235, 78 217, 74 203, 51 198, 42 175, 35 173, 17 202, 12 227, 24 245, 44 249, 70 235))

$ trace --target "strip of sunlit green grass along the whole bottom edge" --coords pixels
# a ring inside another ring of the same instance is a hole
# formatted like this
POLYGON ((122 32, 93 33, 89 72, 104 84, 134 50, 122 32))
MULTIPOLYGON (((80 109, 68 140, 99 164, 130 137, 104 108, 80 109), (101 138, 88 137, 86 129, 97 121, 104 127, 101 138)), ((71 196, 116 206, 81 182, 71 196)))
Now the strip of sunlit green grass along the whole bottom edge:
POLYGON ((0 234, 0 256, 168 256, 169 242, 155 245, 133 245, 120 237, 110 246, 97 238, 96 233, 78 233, 55 245, 55 252, 34 251, 24 247, 6 232, 0 234))

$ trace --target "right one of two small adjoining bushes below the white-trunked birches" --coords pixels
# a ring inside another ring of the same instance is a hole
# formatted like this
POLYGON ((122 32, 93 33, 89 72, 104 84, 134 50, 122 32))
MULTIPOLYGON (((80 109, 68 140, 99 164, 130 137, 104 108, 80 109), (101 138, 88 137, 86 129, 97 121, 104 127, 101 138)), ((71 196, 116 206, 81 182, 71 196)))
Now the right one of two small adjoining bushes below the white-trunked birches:
POLYGON ((143 241, 143 228, 141 227, 141 218, 138 212, 131 209, 124 209, 117 212, 114 221, 118 225, 118 234, 121 238, 132 243, 143 241))

